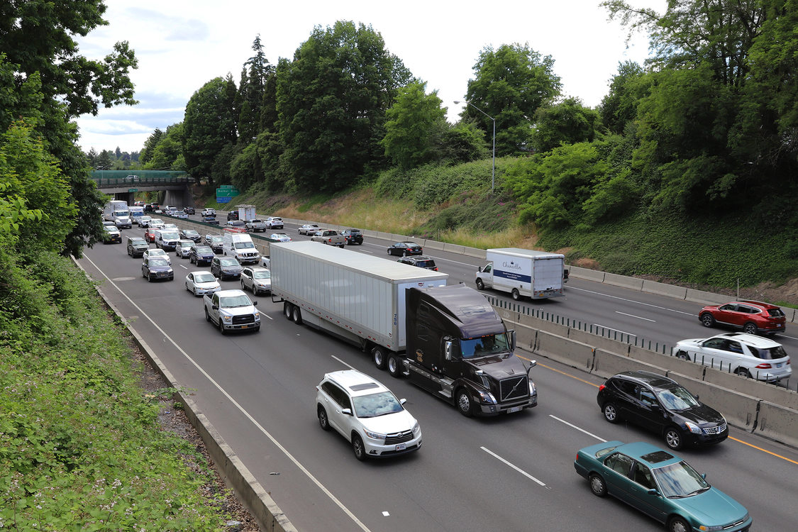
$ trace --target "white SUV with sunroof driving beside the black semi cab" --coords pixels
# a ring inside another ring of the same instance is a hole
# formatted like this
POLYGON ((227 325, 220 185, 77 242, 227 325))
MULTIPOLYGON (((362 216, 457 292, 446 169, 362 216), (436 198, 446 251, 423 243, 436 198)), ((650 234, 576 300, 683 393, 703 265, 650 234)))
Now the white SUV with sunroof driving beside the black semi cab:
POLYGON ((355 458, 395 456, 421 447, 421 427, 388 388, 354 369, 327 373, 316 387, 318 424, 340 432, 355 458))

